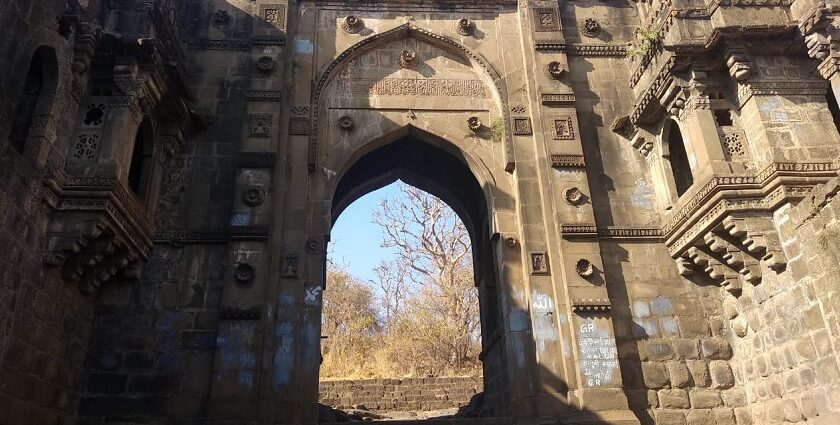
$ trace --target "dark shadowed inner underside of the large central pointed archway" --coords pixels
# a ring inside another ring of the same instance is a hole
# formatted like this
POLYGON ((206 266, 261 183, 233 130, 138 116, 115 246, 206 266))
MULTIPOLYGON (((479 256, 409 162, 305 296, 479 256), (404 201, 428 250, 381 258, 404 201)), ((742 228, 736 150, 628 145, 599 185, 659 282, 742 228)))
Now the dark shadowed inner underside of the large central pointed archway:
MULTIPOLYGON (((352 165, 341 174, 332 197, 332 222, 350 204, 378 189, 401 181, 412 189, 426 192, 449 206, 463 223, 471 242, 470 283, 477 288, 481 347, 478 354, 483 367, 485 400, 500 401, 502 393, 498 365, 488 371, 488 358, 501 356, 498 342, 498 297, 496 272, 491 246, 491 223, 485 191, 471 171, 466 158, 448 142, 434 143, 416 135, 402 134, 394 141, 351 158, 352 165), (452 149, 448 149, 452 148, 452 149)), ((471 288, 475 290, 476 288, 471 288)), ((329 284, 325 293, 329 293, 329 284)), ((325 295, 325 300, 326 300, 325 295)), ((325 306, 325 309, 329 306, 325 306)), ((323 388, 322 388, 323 391, 323 388)))

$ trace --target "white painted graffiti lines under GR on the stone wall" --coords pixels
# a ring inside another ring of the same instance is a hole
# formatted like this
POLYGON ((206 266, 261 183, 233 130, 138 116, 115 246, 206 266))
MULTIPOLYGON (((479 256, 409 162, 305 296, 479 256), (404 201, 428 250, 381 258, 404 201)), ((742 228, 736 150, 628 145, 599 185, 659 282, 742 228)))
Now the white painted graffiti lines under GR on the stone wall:
POLYGON ((580 372, 588 387, 608 386, 618 374, 618 351, 609 332, 596 320, 581 320, 578 327, 580 372))

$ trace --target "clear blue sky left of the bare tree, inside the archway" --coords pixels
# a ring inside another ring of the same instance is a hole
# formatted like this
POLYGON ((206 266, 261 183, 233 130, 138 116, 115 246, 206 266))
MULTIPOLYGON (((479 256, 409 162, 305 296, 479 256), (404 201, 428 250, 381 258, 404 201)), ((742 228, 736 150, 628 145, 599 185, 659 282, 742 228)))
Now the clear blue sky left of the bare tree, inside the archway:
POLYGON ((350 204, 338 216, 330 234, 330 261, 347 267, 353 276, 368 282, 376 278, 374 267, 394 258, 392 248, 382 247, 382 229, 373 222, 373 212, 383 198, 402 198, 399 185, 390 184, 350 204))

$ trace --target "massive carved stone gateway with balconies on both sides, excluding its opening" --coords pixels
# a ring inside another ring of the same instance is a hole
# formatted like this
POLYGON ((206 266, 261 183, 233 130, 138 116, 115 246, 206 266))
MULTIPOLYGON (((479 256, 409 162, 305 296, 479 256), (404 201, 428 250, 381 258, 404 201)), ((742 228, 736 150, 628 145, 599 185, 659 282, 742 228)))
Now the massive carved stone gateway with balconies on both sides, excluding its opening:
POLYGON ((472 238, 459 424, 840 424, 838 23, 2 0, 0 424, 317 423, 331 227, 397 179, 472 238))

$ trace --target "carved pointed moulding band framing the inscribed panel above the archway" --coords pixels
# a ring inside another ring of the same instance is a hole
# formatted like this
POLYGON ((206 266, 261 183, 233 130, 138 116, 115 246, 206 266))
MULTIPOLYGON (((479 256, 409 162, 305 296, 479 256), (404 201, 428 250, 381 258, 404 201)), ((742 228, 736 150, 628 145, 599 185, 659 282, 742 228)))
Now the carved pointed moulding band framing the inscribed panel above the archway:
POLYGON ((495 100, 499 104, 502 121, 504 122, 504 144, 505 144, 505 171, 513 172, 515 168, 515 158, 513 154, 513 139, 511 137, 511 123, 510 116, 507 113, 507 89, 499 73, 490 64, 490 62, 481 56, 478 52, 470 49, 463 44, 440 34, 434 33, 427 29, 421 28, 413 23, 405 23, 392 28, 388 31, 372 35, 351 47, 344 50, 332 62, 327 64, 316 74, 317 83, 314 87, 312 96, 312 123, 309 139, 309 169, 314 171, 318 164, 318 120, 321 107, 321 97, 323 90, 335 78, 336 73, 343 69, 344 66, 350 63, 353 59, 380 47, 395 39, 406 37, 413 37, 420 41, 427 42, 431 45, 440 47, 450 52, 455 52, 465 55, 471 61, 477 63, 485 72, 485 75, 493 83, 495 100))

